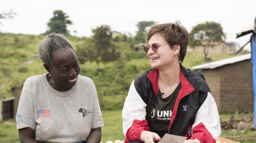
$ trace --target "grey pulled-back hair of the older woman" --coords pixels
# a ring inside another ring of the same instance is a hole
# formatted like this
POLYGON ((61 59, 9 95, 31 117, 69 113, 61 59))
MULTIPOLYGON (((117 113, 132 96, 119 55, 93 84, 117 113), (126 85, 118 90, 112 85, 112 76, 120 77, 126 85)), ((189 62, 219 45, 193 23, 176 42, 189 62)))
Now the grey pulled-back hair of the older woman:
POLYGON ((53 64, 53 54, 60 50, 65 50, 66 48, 71 48, 75 52, 72 44, 65 36, 53 32, 48 34, 45 39, 41 41, 38 48, 39 54, 33 54, 32 56, 38 57, 43 63, 51 67, 53 64))

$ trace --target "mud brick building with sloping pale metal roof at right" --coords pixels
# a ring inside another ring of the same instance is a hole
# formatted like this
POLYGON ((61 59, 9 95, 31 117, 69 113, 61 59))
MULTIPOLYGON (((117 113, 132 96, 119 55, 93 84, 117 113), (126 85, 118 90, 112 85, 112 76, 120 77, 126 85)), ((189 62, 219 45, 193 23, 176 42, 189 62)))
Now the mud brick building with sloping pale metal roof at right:
POLYGON ((253 110, 251 54, 192 67, 201 70, 218 110, 253 110))

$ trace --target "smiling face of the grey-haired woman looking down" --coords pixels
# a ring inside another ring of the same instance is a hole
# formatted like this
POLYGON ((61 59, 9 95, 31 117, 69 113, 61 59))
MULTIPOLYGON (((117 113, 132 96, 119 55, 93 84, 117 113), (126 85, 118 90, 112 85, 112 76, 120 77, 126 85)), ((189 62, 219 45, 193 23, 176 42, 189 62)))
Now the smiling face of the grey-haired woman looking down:
POLYGON ((71 48, 54 53, 52 66, 44 66, 51 73, 47 75, 47 80, 55 90, 64 92, 76 85, 80 65, 71 48))

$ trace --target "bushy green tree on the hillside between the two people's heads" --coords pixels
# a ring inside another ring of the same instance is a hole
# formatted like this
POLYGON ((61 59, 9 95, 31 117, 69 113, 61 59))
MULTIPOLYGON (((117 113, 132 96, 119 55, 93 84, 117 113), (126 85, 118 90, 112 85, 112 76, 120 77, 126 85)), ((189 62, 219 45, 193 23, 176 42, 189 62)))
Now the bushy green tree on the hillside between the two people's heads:
POLYGON ((92 30, 93 36, 91 42, 78 47, 77 57, 79 62, 84 63, 89 60, 104 64, 116 61, 120 57, 118 47, 113 43, 112 31, 108 25, 101 25, 92 30))

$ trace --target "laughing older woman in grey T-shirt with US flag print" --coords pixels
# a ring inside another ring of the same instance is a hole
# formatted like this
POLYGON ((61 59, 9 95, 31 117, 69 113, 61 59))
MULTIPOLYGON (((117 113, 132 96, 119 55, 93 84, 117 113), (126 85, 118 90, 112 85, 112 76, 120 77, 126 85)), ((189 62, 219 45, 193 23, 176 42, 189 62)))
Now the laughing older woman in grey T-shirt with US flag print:
POLYGON ((48 73, 24 83, 16 116, 21 143, 100 142, 104 124, 97 92, 90 78, 78 75, 71 43, 51 33, 38 51, 34 56, 48 73))

